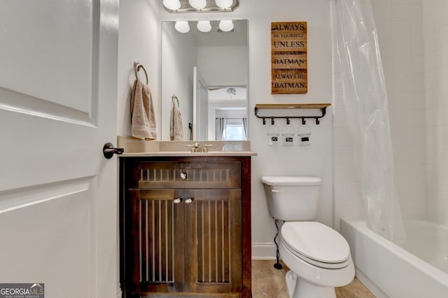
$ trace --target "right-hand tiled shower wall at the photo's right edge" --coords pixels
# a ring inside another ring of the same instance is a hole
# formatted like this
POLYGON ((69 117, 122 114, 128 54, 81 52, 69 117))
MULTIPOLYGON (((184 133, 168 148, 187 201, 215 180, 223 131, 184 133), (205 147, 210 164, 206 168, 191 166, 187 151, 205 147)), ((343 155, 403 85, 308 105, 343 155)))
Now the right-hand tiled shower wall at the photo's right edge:
POLYGON ((428 163, 427 216, 430 221, 447 225, 448 2, 424 0, 422 3, 428 163))

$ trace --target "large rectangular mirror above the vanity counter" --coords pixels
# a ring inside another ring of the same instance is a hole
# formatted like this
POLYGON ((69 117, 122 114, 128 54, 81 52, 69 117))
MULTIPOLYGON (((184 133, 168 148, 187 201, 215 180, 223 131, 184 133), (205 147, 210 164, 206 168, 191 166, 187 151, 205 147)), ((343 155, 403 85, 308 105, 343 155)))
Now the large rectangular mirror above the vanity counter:
POLYGON ((223 31, 212 20, 209 32, 197 23, 181 33, 162 22, 161 139, 248 140, 248 21, 223 31))

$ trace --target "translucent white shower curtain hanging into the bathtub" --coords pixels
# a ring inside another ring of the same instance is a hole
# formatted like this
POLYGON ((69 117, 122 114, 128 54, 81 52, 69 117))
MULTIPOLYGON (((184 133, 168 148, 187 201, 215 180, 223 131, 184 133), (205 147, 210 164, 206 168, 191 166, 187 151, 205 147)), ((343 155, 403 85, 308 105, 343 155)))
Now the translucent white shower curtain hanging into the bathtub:
POLYGON ((331 4, 336 80, 342 86, 367 224, 404 246, 393 184, 386 84, 372 6, 370 0, 332 0, 331 4))

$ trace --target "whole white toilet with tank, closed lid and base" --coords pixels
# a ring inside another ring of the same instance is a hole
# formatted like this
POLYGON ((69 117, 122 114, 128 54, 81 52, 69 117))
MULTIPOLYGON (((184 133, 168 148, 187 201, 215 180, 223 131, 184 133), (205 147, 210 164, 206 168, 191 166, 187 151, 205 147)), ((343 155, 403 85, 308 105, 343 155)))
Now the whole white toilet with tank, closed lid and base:
POLYGON ((321 189, 318 177, 262 177, 267 209, 284 221, 280 230, 280 258, 290 269, 286 285, 290 298, 334 298, 335 287, 355 276, 350 248, 337 231, 312 221, 321 189))

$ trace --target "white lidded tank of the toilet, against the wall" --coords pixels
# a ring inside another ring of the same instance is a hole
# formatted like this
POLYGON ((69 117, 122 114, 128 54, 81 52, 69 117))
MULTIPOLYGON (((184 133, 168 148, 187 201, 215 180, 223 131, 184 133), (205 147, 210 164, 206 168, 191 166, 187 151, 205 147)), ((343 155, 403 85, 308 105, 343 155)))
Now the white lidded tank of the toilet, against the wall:
POLYGON ((321 190, 318 177, 261 177, 265 186, 267 209, 282 221, 310 221, 316 218, 321 190))

